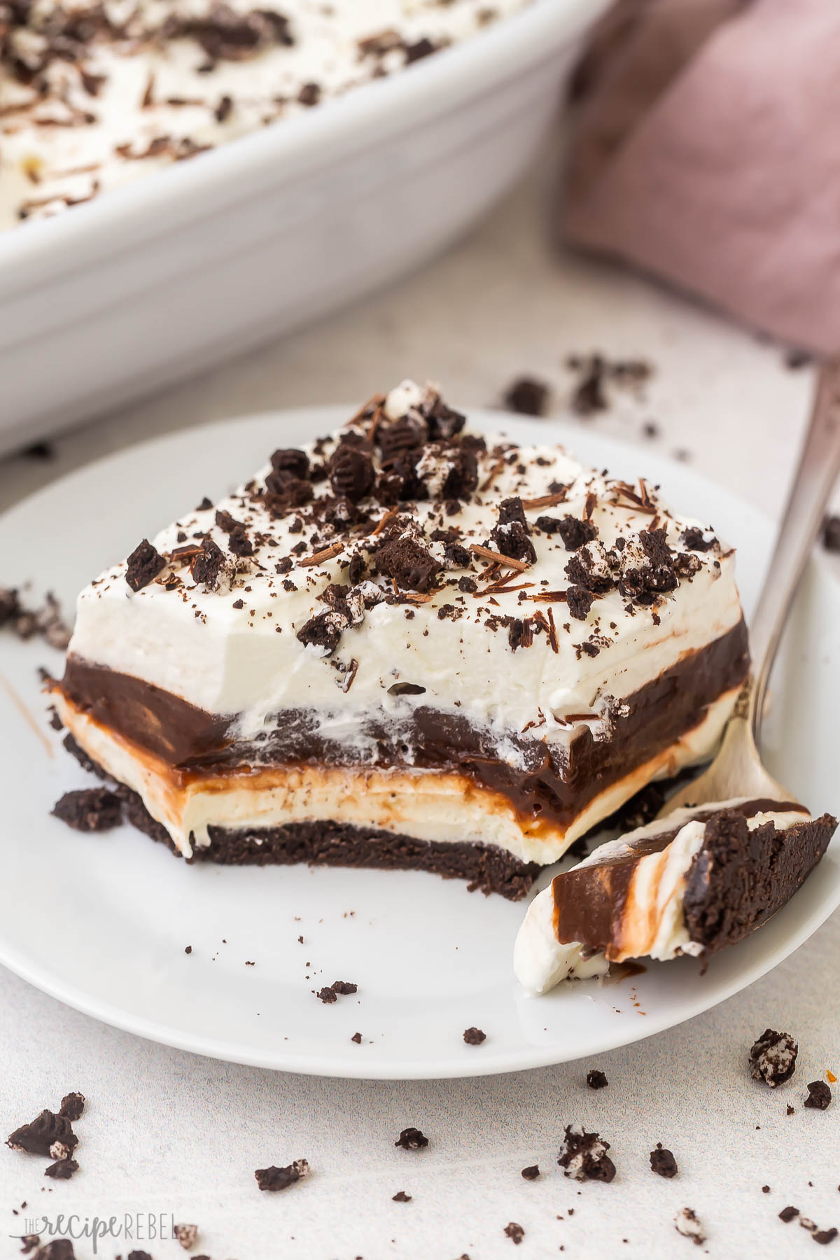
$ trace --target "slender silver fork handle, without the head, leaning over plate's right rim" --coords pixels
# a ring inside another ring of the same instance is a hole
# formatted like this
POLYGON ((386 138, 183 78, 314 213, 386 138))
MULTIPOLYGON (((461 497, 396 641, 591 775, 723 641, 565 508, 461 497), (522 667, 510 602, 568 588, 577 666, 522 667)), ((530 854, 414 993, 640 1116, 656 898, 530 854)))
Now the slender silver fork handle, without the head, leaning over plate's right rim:
POLYGON ((839 471, 840 359, 832 359, 819 372, 800 464, 749 631, 753 683, 747 717, 757 745, 778 643, 839 471))

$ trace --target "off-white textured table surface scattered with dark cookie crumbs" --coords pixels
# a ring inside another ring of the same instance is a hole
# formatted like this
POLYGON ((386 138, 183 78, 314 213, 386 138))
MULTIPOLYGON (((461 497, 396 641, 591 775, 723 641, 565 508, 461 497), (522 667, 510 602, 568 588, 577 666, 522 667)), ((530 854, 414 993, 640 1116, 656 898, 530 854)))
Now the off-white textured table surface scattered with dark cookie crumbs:
MULTIPOLYGON (((535 175, 468 241, 397 287, 282 345, 219 368, 165 397, 59 440, 52 460, 0 464, 0 504, 99 454, 247 411, 355 402, 403 375, 434 377, 456 403, 497 402, 520 373, 554 388, 565 410, 565 355, 601 350, 656 368, 644 399, 615 392, 588 423, 670 452, 778 514, 807 411, 810 370, 783 353, 644 281, 552 253, 545 186, 535 175), (654 421, 655 438, 642 426, 654 421)), ((547 425, 547 432, 549 426, 547 425)), ((826 803, 822 803, 826 804, 826 803)), ((819 878, 819 876, 817 876, 819 878)), ((21 890, 38 914, 38 890, 21 890)), ((72 931, 72 920, 68 926, 72 931)), ((167 1050, 67 1009, 0 970, 0 1129, 79 1089, 82 1171, 45 1182, 45 1160, 0 1148, 0 1254, 26 1218, 164 1213, 198 1222, 194 1254, 213 1260, 471 1260, 693 1254, 673 1217, 693 1207, 714 1256, 811 1255, 778 1211, 798 1207, 840 1226, 840 1099, 805 1110, 805 1084, 840 1075, 840 919, 783 966, 681 1028, 601 1057, 518 1076, 441 1082, 335 1081, 275 1075, 167 1050), (746 1055, 766 1026, 800 1042, 793 1081, 753 1084, 746 1055), (606 1090, 588 1090, 588 1067, 606 1090), (795 1114, 786 1114, 786 1105, 795 1114), (579 1120, 613 1145, 612 1184, 567 1181, 563 1125, 579 1120), (395 1149, 417 1125, 428 1149, 395 1149), (647 1166, 656 1142, 679 1177, 647 1166), (253 1169, 305 1157, 312 1176, 261 1194, 253 1169), (520 1169, 539 1163, 543 1176, 520 1169), (762 1186, 769 1186, 769 1193, 762 1186), (409 1203, 392 1196, 404 1189, 409 1203), (29 1205, 19 1216, 13 1207, 29 1205), (573 1208, 573 1213, 569 1210, 573 1208), (521 1246, 505 1236, 515 1221, 521 1246)), ((480 1051, 477 1051, 480 1053, 480 1051)), ((65 1231, 67 1232, 67 1231, 65 1231)), ((144 1247, 185 1255, 173 1240, 106 1237, 98 1255, 144 1247)), ((835 1242, 840 1254, 840 1239, 835 1242)), ((77 1256, 94 1254, 89 1240, 77 1256)), ((830 1252, 831 1254, 831 1252, 830 1252)))

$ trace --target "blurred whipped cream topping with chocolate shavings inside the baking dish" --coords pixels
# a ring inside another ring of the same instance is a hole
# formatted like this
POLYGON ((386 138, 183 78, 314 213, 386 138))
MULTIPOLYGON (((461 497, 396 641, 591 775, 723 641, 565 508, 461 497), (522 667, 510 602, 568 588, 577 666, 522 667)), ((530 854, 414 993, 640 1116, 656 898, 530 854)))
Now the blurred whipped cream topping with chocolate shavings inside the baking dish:
POLYGON ((311 108, 528 0, 0 0, 0 229, 311 108))

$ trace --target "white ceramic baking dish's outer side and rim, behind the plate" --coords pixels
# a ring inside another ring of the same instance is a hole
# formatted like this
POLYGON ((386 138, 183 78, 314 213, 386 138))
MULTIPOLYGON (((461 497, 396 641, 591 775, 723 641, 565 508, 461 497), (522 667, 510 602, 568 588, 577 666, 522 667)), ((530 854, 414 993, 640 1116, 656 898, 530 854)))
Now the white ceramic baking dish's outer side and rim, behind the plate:
POLYGON ((390 78, 0 234, 0 451, 441 249, 526 165, 604 6, 535 0, 390 78))

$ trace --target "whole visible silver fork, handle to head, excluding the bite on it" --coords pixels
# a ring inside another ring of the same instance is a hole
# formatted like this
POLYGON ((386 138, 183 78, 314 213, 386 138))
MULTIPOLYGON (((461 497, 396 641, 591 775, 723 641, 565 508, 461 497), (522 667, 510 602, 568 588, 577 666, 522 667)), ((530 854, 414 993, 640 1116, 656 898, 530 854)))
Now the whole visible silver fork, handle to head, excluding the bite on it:
POLYGON ((758 753, 761 723, 767 682, 782 630, 839 471, 840 360, 836 360, 820 369, 800 465, 752 619, 751 677, 738 697, 717 757, 708 770, 665 803, 659 818, 665 818, 684 805, 703 805, 738 796, 796 800, 762 765, 758 753))

